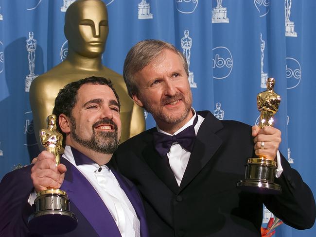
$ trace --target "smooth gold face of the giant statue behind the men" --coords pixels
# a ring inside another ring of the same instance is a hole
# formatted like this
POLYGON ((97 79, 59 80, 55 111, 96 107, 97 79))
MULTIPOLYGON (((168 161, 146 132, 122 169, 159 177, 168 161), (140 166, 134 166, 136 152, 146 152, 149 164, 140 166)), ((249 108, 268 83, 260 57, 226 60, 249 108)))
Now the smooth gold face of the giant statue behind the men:
POLYGON ((108 34, 107 12, 101 1, 83 1, 77 6, 67 33, 69 47, 85 57, 96 57, 103 53, 108 34))

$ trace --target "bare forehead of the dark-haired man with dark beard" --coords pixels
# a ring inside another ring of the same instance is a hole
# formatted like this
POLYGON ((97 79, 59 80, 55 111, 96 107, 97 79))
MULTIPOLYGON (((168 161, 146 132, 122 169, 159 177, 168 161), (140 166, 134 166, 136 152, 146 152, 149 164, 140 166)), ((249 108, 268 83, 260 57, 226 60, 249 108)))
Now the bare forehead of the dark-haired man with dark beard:
POLYGON ((106 101, 115 100, 115 94, 113 90, 107 85, 82 85, 77 93, 77 104, 82 104, 93 99, 103 99, 106 101))

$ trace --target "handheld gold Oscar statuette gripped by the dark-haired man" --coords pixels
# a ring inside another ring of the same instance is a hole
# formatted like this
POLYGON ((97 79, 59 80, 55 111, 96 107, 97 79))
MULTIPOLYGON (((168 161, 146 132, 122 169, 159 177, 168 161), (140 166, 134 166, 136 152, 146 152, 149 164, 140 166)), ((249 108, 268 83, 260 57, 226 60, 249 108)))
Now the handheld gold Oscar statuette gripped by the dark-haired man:
MULTIPOLYGON (((59 165, 59 151, 62 148, 63 135, 56 130, 56 116, 47 117, 47 129, 40 131, 40 138, 46 151, 55 155, 59 165)), ((65 191, 52 187, 36 195, 35 213, 29 218, 32 232, 42 235, 65 234, 77 227, 77 217, 70 212, 70 200, 65 191)))

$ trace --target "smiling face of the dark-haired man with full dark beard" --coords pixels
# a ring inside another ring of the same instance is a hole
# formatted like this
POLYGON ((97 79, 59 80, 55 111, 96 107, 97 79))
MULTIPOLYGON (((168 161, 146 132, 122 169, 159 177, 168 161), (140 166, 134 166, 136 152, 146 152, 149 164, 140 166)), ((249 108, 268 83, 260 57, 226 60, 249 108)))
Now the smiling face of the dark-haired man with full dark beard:
POLYGON ((82 85, 71 114, 70 139, 75 148, 105 154, 115 152, 122 126, 118 101, 110 87, 82 85))

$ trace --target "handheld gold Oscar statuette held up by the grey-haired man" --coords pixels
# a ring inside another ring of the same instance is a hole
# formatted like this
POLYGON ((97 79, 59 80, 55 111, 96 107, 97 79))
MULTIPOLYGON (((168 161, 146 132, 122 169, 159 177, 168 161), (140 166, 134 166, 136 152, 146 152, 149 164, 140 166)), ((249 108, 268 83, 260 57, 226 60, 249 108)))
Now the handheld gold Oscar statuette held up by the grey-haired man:
MULTIPOLYGON (((277 113, 281 102, 281 97, 273 91, 274 84, 274 78, 268 78, 266 81, 267 90, 257 95, 257 106, 261 112, 260 128, 273 125, 273 116, 277 113)), ((239 181, 237 186, 251 192, 279 194, 281 186, 274 183, 276 164, 274 160, 269 160, 264 156, 249 158, 246 164, 245 180, 239 181)))

